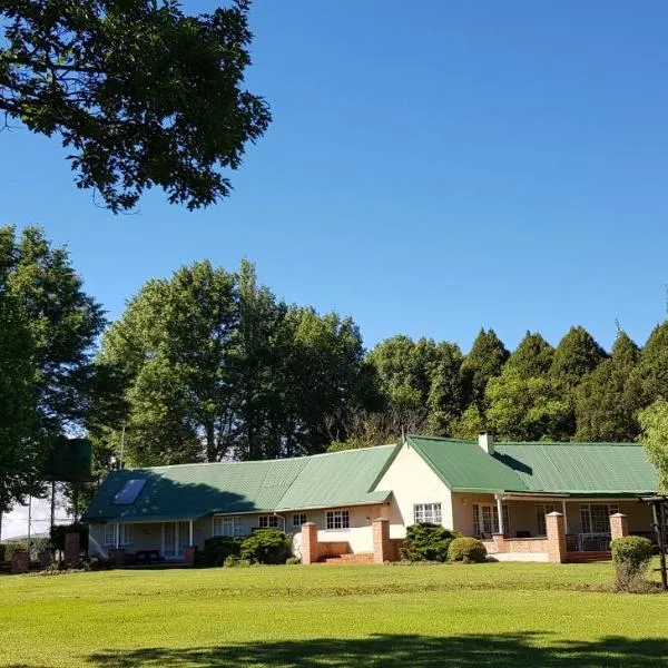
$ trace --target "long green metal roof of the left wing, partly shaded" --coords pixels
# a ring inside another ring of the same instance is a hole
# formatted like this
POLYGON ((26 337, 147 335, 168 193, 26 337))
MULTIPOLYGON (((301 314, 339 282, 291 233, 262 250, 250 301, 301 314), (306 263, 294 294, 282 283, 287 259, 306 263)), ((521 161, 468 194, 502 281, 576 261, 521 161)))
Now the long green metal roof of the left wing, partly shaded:
POLYGON ((84 520, 126 522, 196 519, 385 501, 371 492, 394 445, 295 459, 124 469, 110 473, 84 520), (114 503, 128 480, 145 478, 135 503, 114 503))

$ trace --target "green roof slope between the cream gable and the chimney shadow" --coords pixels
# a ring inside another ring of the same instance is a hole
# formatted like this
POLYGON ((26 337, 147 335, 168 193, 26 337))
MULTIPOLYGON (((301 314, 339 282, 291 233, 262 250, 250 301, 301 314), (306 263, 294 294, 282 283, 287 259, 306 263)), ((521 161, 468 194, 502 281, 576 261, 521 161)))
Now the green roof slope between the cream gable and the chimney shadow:
POLYGON ((409 434, 406 443, 454 492, 527 492, 521 478, 472 441, 409 434))

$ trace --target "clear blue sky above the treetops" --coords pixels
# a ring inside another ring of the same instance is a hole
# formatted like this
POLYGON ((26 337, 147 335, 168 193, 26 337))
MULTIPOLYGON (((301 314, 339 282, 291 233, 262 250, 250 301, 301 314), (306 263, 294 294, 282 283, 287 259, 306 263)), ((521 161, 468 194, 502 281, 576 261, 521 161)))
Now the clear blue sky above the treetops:
POLYGON ((274 122, 232 198, 114 216, 17 130, 0 223, 68 244, 112 317, 149 277, 248 257, 367 346, 572 324, 609 346, 616 318, 642 342, 666 313, 667 24, 664 0, 257 0, 248 85, 274 122))

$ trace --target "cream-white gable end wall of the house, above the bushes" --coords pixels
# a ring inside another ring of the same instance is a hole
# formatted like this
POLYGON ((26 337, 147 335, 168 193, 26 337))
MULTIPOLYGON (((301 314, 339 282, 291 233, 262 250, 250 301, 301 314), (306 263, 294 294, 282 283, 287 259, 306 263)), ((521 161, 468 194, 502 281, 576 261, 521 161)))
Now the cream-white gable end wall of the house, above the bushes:
POLYGON ((441 523, 453 528, 452 492, 429 464, 405 443, 385 471, 376 490, 391 490, 389 509, 390 537, 404 538, 406 527, 414 524, 414 505, 440 503, 441 523))

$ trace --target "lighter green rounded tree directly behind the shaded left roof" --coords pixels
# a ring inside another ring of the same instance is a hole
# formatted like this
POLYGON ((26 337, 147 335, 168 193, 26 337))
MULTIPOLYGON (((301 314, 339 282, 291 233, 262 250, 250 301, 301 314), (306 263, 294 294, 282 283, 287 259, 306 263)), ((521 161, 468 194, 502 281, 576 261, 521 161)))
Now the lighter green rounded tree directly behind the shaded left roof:
MULTIPOLYGON (((238 318, 236 277, 203 262, 147 282, 105 334, 100 362, 128 380, 134 463, 218 461, 227 453, 238 318)), ((121 425, 106 426, 110 439, 121 425)))

